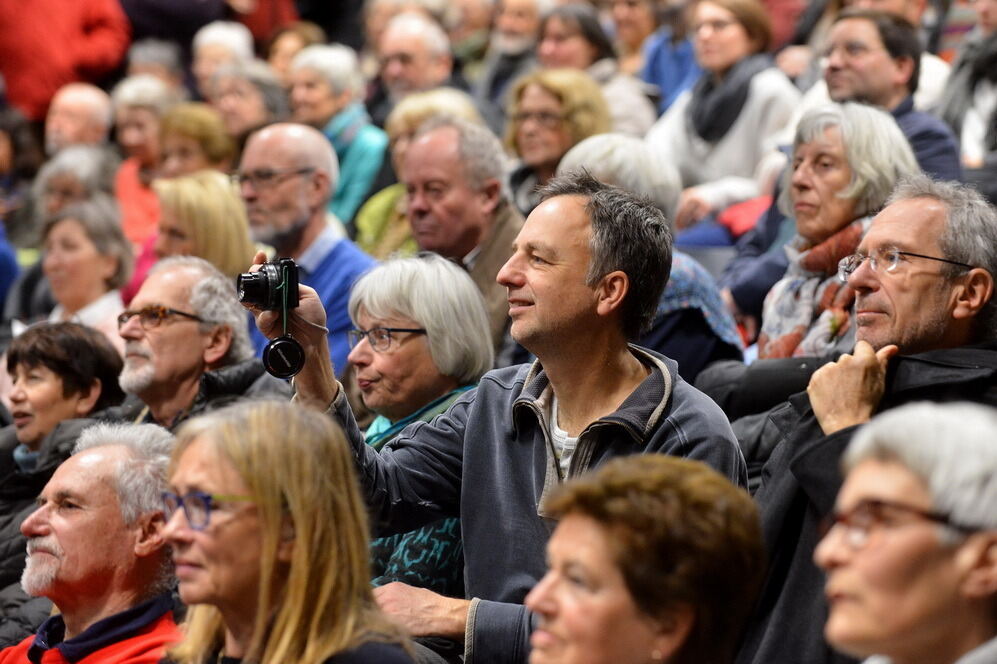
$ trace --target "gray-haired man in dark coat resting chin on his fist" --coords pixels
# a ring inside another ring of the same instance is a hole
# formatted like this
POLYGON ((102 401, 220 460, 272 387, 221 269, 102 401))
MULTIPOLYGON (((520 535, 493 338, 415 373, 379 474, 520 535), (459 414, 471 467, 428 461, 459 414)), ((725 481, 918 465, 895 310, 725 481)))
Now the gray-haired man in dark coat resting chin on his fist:
POLYGON ((771 563, 741 663, 840 661, 821 638, 811 557, 856 425, 910 401, 997 404, 997 211, 979 193, 902 182, 840 270, 855 290, 854 353, 818 369, 763 426, 734 424, 749 460, 772 450, 756 494, 771 563))

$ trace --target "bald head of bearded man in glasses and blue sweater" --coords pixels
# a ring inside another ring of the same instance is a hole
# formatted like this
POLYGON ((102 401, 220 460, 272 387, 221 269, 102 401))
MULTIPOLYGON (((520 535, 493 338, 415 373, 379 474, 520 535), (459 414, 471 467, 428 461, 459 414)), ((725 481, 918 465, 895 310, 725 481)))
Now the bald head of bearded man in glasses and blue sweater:
POLYGON ((297 258, 325 228, 339 180, 329 140, 307 125, 270 125, 249 138, 239 173, 253 239, 297 258))

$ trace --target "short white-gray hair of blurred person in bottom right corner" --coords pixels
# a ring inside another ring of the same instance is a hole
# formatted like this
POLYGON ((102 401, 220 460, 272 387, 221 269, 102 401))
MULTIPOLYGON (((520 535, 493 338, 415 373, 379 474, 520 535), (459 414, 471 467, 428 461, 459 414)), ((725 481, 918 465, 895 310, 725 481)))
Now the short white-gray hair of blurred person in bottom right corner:
POLYGON ((933 509, 955 523, 997 528, 997 410, 973 403, 911 403, 874 417, 842 458, 896 461, 928 487, 933 509))

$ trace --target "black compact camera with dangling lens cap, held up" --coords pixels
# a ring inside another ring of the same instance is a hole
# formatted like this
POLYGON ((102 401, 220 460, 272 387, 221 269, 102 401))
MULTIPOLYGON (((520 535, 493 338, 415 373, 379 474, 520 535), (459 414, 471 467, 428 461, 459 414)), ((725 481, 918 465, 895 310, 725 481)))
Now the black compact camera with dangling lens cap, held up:
POLYGON ((288 330, 288 312, 298 306, 298 266, 290 258, 264 263, 235 282, 239 301, 266 311, 279 311, 283 334, 263 349, 263 366, 277 378, 290 378, 305 366, 305 351, 288 330))

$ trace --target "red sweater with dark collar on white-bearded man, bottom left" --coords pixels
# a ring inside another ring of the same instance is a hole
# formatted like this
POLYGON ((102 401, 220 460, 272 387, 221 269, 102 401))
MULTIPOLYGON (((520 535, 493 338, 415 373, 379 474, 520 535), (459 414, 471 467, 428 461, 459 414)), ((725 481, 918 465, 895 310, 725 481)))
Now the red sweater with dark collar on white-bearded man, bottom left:
POLYGON ((0 651, 0 664, 158 664, 166 647, 183 638, 173 621, 169 595, 98 621, 68 641, 49 645, 61 639, 62 630, 62 616, 49 618, 37 634, 0 651))

